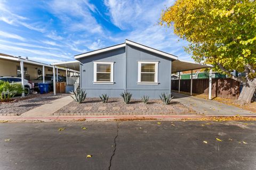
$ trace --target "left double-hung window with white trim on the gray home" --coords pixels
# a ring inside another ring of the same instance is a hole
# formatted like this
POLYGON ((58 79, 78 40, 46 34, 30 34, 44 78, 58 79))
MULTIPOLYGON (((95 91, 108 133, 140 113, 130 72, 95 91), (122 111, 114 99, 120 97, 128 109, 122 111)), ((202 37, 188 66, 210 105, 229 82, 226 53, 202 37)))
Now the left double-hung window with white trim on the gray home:
POLYGON ((114 84, 114 62, 93 62, 94 84, 114 84))

